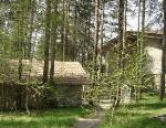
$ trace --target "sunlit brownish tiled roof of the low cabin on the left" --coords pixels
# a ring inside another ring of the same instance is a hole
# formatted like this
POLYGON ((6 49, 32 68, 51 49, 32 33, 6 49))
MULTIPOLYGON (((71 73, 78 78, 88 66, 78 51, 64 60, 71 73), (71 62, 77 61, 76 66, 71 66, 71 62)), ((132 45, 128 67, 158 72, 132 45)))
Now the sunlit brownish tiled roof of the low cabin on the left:
MULTIPOLYGON (((12 66, 18 66, 18 60, 9 61, 12 66)), ((43 61, 23 60, 22 79, 30 82, 42 81, 43 61)), ((15 78, 14 78, 15 79, 15 78)), ((54 83, 68 85, 87 85, 91 84, 90 75, 84 71, 79 62, 54 62, 54 83)))

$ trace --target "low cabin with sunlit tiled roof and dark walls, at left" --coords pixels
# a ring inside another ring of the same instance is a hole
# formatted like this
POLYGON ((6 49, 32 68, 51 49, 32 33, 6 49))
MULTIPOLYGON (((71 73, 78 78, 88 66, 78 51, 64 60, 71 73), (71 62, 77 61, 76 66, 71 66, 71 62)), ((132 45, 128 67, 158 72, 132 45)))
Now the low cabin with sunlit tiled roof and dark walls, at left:
MULTIPOLYGON (((0 108, 1 106, 6 106, 4 103, 8 103, 8 106, 12 107, 12 103, 18 100, 15 99, 18 97, 22 97, 23 103, 25 100, 24 87, 19 87, 19 89, 14 87, 14 84, 18 83, 18 64, 19 61, 17 60, 1 61, 1 67, 4 68, 0 70, 0 99, 3 99, 3 102, 0 102, 0 108), (6 83, 6 85, 3 83, 6 83)), ((38 83, 40 85, 42 83, 42 74, 43 61, 22 61, 22 83, 38 83)), ((83 103, 83 88, 90 84, 89 74, 79 62, 54 62, 54 105, 81 106, 83 103)), ((33 93, 33 90, 30 93, 33 93)), ((34 96, 34 98, 30 98, 29 96, 29 102, 31 108, 35 108, 35 105, 42 106, 41 99, 38 100, 37 96, 34 96)))

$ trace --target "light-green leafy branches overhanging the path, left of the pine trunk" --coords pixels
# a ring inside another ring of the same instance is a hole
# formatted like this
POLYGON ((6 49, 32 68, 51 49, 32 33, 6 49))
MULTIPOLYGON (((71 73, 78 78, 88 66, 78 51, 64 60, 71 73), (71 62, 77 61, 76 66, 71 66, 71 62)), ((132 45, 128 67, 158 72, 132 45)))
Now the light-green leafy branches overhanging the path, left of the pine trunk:
POLYGON ((102 99, 113 99, 117 94, 117 86, 121 85, 121 71, 108 73, 103 75, 100 79, 91 87, 87 93, 87 99, 98 104, 102 99))

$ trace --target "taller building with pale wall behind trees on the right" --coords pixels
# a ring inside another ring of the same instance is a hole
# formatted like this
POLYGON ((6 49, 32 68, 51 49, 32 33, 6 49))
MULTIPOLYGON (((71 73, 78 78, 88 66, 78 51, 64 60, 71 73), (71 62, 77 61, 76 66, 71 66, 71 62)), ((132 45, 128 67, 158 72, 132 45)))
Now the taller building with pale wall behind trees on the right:
MULTIPOLYGON (((136 52, 137 45, 137 32, 127 32, 126 33, 127 45, 125 52, 133 54, 136 52)), ((117 61, 114 62, 114 58, 117 57, 117 44, 118 36, 105 43, 103 46, 103 56, 104 62, 112 61, 113 67, 117 65, 117 61), (106 60, 106 61, 105 61, 106 60)), ((162 43, 163 43, 163 34, 160 33, 145 33, 144 35, 144 52, 147 54, 147 63, 146 63, 146 74, 153 77, 153 86, 158 89, 160 85, 160 73, 162 73, 162 43)), ((111 66, 108 70, 111 68, 111 66)))

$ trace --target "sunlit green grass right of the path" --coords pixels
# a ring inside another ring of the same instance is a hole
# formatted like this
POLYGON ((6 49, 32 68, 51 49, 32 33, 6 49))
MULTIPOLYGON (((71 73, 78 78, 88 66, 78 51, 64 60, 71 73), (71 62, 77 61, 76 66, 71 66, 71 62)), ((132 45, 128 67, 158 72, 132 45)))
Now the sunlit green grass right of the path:
POLYGON ((145 97, 139 104, 121 106, 115 113, 111 125, 111 114, 106 114, 101 128, 166 128, 166 122, 152 118, 166 114, 166 102, 159 103, 158 97, 145 97))

